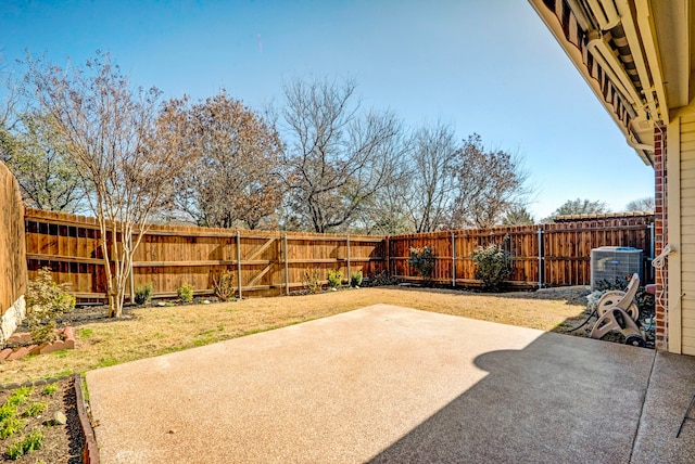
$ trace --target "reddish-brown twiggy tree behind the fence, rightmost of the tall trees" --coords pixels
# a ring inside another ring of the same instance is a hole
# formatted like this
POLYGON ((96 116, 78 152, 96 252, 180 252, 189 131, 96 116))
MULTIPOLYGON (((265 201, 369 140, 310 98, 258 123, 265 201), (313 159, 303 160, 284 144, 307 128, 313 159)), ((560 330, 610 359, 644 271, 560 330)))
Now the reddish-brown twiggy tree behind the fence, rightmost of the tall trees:
POLYGON ((531 193, 519 155, 486 150, 477 133, 468 137, 457 152, 454 176, 457 197, 451 218, 453 228, 491 228, 531 193))

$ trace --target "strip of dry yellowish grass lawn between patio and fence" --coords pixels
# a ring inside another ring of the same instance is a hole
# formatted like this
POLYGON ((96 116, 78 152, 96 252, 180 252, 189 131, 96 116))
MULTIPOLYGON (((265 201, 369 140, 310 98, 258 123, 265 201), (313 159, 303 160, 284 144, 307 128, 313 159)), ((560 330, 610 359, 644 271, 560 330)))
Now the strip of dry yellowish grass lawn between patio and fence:
POLYGON ((251 298, 199 306, 136 309, 135 318, 75 327, 77 349, 0 364, 0 383, 84 372, 207 345, 375 304, 399 305, 522 327, 553 331, 584 310, 533 294, 482 295, 376 287, 319 295, 251 298))

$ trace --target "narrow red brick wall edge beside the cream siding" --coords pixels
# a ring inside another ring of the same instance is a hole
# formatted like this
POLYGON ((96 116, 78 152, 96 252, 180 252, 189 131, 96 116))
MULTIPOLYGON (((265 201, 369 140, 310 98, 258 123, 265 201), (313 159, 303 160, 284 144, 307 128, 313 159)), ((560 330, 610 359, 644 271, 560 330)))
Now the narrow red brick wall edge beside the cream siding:
MULTIPOLYGON (((654 175, 655 175, 655 252, 659 255, 668 243, 668 208, 666 168, 666 128, 654 128, 654 175)), ((667 265, 656 272, 656 348, 668 349, 668 260, 667 265)))

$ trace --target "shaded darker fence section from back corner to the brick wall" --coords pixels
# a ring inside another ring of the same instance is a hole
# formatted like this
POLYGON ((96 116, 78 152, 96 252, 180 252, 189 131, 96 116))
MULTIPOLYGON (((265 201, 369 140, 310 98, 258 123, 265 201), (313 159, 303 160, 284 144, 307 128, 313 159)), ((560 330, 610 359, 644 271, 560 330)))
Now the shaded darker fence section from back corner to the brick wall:
POLYGON ((508 284, 517 287, 589 285, 591 249, 632 246, 643 250, 643 275, 650 280, 653 215, 607 217, 553 224, 459 230, 389 237, 389 269, 405 281, 418 281, 408 266, 409 248, 429 246, 435 256, 432 280, 452 286, 475 286, 472 253, 497 244, 513 256, 508 284))

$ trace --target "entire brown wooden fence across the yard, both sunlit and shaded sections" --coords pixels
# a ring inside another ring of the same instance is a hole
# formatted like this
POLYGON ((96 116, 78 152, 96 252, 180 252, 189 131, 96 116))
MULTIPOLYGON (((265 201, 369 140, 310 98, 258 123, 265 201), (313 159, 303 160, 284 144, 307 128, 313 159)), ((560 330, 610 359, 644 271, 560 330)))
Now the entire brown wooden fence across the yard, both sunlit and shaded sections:
MULTIPOLYGON (((365 276, 386 271, 418 282, 417 270, 408 266, 409 248, 425 246, 435 256, 433 282, 476 286, 480 283, 471 255, 490 244, 513 256, 510 286, 589 285, 591 249, 599 246, 640 248, 648 269, 653 221, 654 216, 641 215, 394 236, 152 225, 134 256, 132 287, 150 283, 154 296, 173 297, 178 287, 191 284, 197 295, 212 295, 215 282, 227 272, 238 295, 279 295, 304 287, 307 273, 326 283, 331 269, 342 271, 345 283, 356 271, 365 276)), ((78 298, 105 297, 94 218, 27 208, 25 231, 29 278, 49 267, 78 298)), ((110 234, 106 241, 111 247, 110 234)), ((650 272, 644 275, 648 280, 650 272)))

